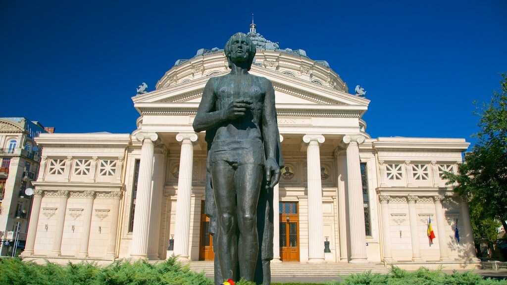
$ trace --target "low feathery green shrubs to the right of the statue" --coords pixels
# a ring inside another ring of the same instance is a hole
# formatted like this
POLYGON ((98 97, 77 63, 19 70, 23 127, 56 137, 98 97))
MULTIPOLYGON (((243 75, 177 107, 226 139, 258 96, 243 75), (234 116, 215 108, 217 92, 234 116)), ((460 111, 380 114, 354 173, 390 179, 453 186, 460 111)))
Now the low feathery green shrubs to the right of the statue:
POLYGON ((483 279, 473 271, 445 274, 442 270, 429 270, 421 267, 416 271, 406 271, 392 266, 389 274, 351 274, 343 281, 328 282, 329 285, 507 285, 507 280, 483 279))

